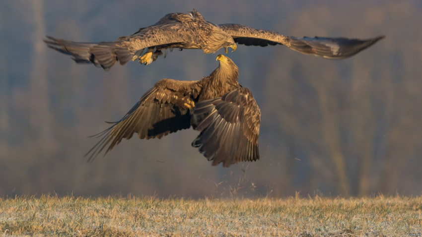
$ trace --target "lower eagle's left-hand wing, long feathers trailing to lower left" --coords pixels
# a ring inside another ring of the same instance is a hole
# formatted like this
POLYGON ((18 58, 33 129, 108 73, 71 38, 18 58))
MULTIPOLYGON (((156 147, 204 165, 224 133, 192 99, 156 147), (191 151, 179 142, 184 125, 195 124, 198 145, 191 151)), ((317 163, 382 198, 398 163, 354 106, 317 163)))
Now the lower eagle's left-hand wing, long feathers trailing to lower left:
POLYGON ((201 91, 198 81, 162 79, 146 92, 119 121, 97 137, 100 141, 85 156, 92 161, 107 145, 105 153, 138 133, 140 139, 161 138, 191 126, 190 110, 201 91))

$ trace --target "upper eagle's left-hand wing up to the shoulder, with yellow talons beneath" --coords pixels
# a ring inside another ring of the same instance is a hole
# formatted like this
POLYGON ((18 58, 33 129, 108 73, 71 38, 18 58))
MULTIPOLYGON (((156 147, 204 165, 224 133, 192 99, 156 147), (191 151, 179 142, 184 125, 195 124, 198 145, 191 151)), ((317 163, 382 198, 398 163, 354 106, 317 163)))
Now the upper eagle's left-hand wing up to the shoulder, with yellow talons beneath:
POLYGON ((77 63, 93 63, 108 70, 117 61, 122 65, 129 60, 149 64, 166 49, 200 49, 192 24, 193 18, 189 14, 169 13, 155 25, 113 42, 80 43, 51 36, 44 42, 49 48, 70 55, 77 63))

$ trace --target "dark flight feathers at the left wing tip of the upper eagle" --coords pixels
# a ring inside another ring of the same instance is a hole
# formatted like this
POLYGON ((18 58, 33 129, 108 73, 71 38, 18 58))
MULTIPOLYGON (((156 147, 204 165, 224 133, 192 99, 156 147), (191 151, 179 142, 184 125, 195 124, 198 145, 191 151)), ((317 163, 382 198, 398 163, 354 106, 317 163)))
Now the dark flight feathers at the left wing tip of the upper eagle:
POLYGON ((132 59, 131 52, 117 42, 80 43, 47 36, 44 40, 51 49, 70 55, 77 63, 92 63, 109 70, 117 61, 123 65, 132 59))

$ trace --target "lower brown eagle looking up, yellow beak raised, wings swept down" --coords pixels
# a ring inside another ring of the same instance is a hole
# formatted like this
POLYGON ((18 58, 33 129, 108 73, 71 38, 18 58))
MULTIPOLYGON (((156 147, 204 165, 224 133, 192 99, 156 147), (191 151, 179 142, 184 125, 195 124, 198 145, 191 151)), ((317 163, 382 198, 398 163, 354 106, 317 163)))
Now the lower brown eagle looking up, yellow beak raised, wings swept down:
POLYGON ((236 64, 223 55, 216 60, 218 67, 201 80, 159 80, 122 119, 94 135, 101 139, 87 152, 88 161, 134 133, 140 139, 161 138, 191 126, 200 131, 192 146, 213 166, 258 160, 261 111, 239 84, 236 64))

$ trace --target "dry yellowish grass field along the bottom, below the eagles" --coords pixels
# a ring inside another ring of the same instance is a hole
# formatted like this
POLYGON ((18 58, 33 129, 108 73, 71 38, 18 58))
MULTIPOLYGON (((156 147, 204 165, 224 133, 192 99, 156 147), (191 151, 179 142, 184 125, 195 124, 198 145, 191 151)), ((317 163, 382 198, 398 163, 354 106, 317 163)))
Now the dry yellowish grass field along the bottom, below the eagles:
POLYGON ((422 197, 0 199, 0 236, 421 236, 422 197))

